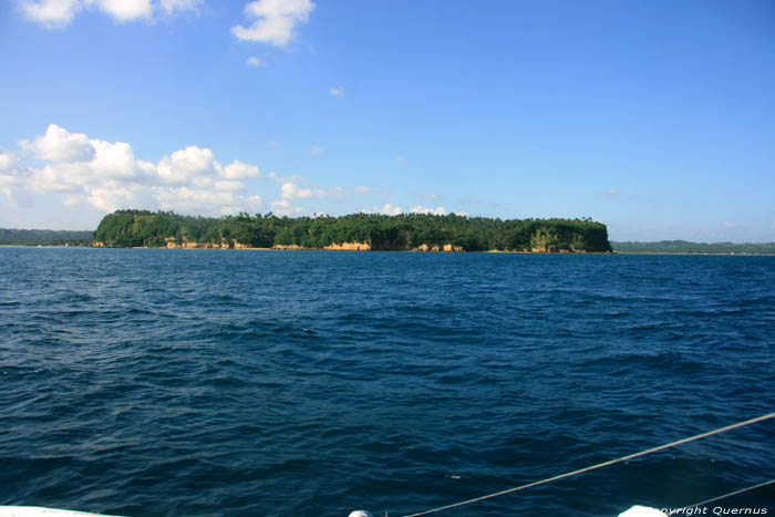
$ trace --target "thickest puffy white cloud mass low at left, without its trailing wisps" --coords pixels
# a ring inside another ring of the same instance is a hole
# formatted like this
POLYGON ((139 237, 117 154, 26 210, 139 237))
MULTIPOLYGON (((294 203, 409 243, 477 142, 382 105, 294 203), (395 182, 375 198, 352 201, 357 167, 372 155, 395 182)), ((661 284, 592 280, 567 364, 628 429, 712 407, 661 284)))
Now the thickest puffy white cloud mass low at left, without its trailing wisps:
POLYGON ((264 207, 244 183, 262 177, 258 167, 239 161, 223 166, 208 148, 188 146, 152 163, 135 157, 127 143, 90 139, 55 124, 20 146, 44 164, 14 168, 17 158, 0 154, 0 192, 10 200, 20 193, 49 194, 65 206, 105 211, 143 207, 208 215, 264 207))

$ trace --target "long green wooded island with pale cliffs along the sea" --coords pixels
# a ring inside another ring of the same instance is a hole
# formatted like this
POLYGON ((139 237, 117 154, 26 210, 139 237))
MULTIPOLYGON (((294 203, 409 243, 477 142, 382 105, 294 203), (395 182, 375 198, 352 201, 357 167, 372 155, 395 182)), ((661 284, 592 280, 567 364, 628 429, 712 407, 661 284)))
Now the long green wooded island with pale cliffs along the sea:
POLYGON ((458 215, 354 214, 343 217, 278 217, 240 214, 220 218, 170 211, 117 210, 96 231, 106 247, 323 248, 365 242, 374 250, 452 245, 465 251, 541 250, 608 252, 606 225, 591 219, 489 219, 458 215))

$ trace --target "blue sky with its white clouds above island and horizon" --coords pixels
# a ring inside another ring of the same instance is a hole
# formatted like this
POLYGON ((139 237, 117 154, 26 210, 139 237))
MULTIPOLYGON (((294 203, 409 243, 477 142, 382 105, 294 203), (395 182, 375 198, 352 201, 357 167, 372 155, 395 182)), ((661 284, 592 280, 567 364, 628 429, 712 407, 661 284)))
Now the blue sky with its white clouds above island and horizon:
POLYGON ((454 211, 775 240, 768 0, 0 6, 0 227, 454 211))

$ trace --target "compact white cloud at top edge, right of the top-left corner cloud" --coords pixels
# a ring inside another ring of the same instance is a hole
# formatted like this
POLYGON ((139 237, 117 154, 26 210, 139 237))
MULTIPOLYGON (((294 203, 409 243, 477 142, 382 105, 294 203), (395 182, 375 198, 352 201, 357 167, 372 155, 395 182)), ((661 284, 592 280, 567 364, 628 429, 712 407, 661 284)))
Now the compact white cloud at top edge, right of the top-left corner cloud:
POLYGON ((235 25, 231 33, 239 40, 285 48, 296 38, 296 27, 306 23, 313 9, 311 0, 255 0, 245 6, 245 15, 255 19, 252 24, 235 25))

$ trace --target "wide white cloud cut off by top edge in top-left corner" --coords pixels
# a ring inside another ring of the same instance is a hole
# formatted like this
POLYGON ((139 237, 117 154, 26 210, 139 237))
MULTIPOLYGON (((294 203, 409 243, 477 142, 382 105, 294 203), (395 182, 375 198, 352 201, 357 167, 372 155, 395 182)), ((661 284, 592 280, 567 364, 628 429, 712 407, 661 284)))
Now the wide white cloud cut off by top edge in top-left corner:
POLYGON ((17 0, 22 14, 46 28, 64 27, 84 9, 101 11, 117 22, 151 20, 165 14, 196 11, 204 0, 17 0))

